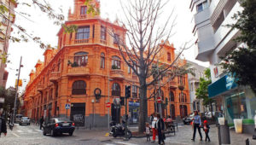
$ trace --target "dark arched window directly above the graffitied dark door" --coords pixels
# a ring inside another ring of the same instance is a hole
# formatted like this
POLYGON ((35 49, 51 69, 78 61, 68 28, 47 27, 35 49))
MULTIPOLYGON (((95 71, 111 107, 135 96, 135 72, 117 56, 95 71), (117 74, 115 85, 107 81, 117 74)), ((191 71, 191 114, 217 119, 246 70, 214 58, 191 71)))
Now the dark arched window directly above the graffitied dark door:
POLYGON ((86 84, 83 80, 78 80, 73 82, 72 86, 73 95, 85 95, 86 94, 86 84))

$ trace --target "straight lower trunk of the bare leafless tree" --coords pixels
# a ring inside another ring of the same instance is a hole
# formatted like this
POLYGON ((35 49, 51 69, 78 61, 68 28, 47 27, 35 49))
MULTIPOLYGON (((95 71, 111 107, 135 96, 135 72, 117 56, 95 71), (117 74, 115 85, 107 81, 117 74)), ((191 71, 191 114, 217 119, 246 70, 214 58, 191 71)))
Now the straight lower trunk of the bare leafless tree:
POLYGON ((147 86, 146 83, 143 83, 140 88, 140 111, 139 111, 139 129, 140 133, 143 133, 145 130, 145 123, 148 119, 148 103, 147 103, 147 86))

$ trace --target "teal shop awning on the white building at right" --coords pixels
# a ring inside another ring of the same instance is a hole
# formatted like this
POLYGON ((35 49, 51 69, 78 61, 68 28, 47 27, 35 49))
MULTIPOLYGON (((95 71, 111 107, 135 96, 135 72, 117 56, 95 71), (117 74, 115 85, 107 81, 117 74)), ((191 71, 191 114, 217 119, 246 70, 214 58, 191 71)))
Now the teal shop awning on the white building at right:
POLYGON ((209 98, 218 96, 227 90, 231 90, 237 87, 235 78, 231 74, 227 74, 222 78, 219 78, 216 82, 208 86, 209 98))

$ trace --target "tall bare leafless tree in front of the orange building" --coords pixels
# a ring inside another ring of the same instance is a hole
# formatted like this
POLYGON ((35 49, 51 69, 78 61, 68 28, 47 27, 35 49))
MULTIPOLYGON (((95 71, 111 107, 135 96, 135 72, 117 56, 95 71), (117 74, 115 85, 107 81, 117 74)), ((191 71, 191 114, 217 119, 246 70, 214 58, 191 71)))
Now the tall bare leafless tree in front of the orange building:
MULTIPOLYGON (((120 1, 121 3, 121 1, 120 1)), ((118 38, 112 29, 110 34, 113 36, 115 42, 118 43, 120 54, 122 55, 128 67, 131 67, 133 72, 139 78, 139 91, 140 91, 140 113, 139 113, 139 132, 143 132, 145 122, 148 118, 148 94, 150 86, 159 82, 164 78, 166 73, 170 74, 173 78, 179 73, 181 69, 177 69, 180 65, 178 60, 183 53, 184 49, 188 49, 187 43, 183 45, 180 52, 176 55, 172 64, 166 65, 160 63, 160 51, 164 48, 164 44, 172 37, 172 29, 175 26, 176 16, 173 16, 173 9, 171 14, 166 18, 163 26, 156 25, 157 20, 162 13, 167 1, 155 0, 131 0, 127 4, 121 3, 122 9, 125 14, 125 21, 122 23, 127 29, 126 38, 130 47, 128 47, 124 40, 118 38), (130 49, 131 48, 131 49, 130 49), (161 67, 157 73, 154 73, 154 65, 161 67), (152 76, 154 75, 153 79, 152 76)), ((161 84, 158 85, 160 89, 161 84)), ((155 88, 155 90, 158 90, 155 88)), ((154 91, 156 92, 156 91, 154 91)), ((152 96, 154 97, 153 93, 152 96)))

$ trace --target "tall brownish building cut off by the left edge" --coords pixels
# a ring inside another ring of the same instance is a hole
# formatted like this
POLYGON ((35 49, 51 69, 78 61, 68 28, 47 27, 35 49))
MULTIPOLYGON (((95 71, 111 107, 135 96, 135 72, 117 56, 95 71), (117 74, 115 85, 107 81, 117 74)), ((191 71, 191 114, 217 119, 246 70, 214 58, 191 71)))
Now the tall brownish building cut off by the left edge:
POLYGON ((8 54, 9 49, 9 36, 12 32, 12 26, 15 22, 15 8, 17 7, 17 3, 14 3, 10 0, 0 0, 0 5, 3 5, 4 7, 9 9, 9 12, 6 12, 3 14, 1 12, 0 14, 0 86, 5 87, 6 81, 8 78, 8 72, 5 71, 6 59, 4 57, 8 54))

